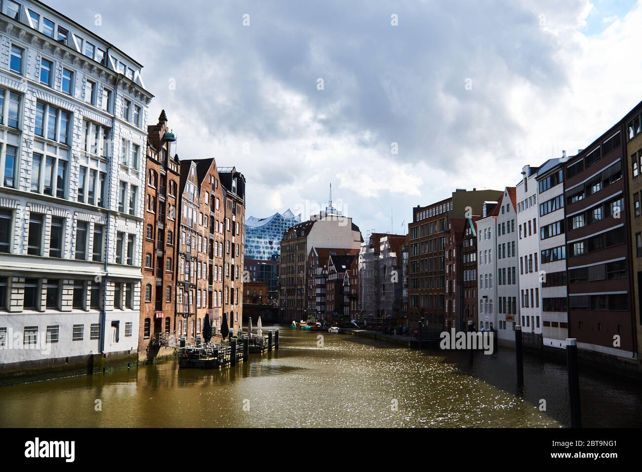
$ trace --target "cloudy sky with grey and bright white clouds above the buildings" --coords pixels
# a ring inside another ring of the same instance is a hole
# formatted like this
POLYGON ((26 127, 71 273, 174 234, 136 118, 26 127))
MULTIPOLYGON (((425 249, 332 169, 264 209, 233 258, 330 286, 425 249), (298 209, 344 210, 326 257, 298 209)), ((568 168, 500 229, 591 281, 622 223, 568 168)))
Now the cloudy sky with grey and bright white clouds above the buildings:
POLYGON ((144 65, 150 122, 243 172, 248 214, 315 211, 332 182, 364 236, 514 185, 642 100, 642 0, 48 3, 144 65))

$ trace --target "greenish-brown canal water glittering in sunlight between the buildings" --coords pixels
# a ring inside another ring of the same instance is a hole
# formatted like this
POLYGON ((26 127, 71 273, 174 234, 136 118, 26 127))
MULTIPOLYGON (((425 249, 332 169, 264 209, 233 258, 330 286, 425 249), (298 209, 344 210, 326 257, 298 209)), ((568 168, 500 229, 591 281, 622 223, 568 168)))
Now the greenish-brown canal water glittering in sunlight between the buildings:
MULTIPOLYGON (((469 366, 466 353, 290 328, 280 333, 278 351, 250 354, 250 362, 220 371, 179 370, 170 361, 1 387, 0 426, 569 425, 564 365, 526 356, 519 391, 510 349, 476 354, 469 366)), ((634 381, 580 372, 580 389, 583 426, 642 426, 642 389, 634 381)))

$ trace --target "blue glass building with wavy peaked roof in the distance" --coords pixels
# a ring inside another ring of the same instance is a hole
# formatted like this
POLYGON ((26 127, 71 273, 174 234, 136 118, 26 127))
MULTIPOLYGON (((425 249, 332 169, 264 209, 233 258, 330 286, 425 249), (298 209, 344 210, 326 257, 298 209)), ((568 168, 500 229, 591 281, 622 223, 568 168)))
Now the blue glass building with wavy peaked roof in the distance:
POLYGON ((245 258, 259 261, 269 261, 275 255, 280 258, 283 232, 300 222, 301 215, 294 216, 289 209, 268 218, 250 216, 245 220, 245 258))

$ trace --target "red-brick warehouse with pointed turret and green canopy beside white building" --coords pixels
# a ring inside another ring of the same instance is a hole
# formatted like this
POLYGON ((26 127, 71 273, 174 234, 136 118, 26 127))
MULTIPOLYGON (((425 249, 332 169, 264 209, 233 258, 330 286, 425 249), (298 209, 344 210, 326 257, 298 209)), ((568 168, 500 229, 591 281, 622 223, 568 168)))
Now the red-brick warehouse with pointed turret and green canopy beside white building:
MULTIPOLYGON (((145 211, 143 234, 143 283, 138 354, 152 360, 170 349, 160 345, 160 333, 175 334, 175 285, 177 238, 178 155, 171 155, 174 135, 162 110, 157 125, 148 126, 146 150, 145 211)), ((166 352, 167 351, 167 352, 166 352)))

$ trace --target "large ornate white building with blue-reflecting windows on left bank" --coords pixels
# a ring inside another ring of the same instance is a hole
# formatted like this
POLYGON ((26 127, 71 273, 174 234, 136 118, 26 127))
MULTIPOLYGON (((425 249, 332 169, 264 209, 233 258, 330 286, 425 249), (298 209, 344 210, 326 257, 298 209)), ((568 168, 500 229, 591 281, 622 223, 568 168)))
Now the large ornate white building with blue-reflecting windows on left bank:
POLYGON ((142 66, 40 2, 4 0, 2 13, 0 373, 128 358, 152 99, 142 66))

